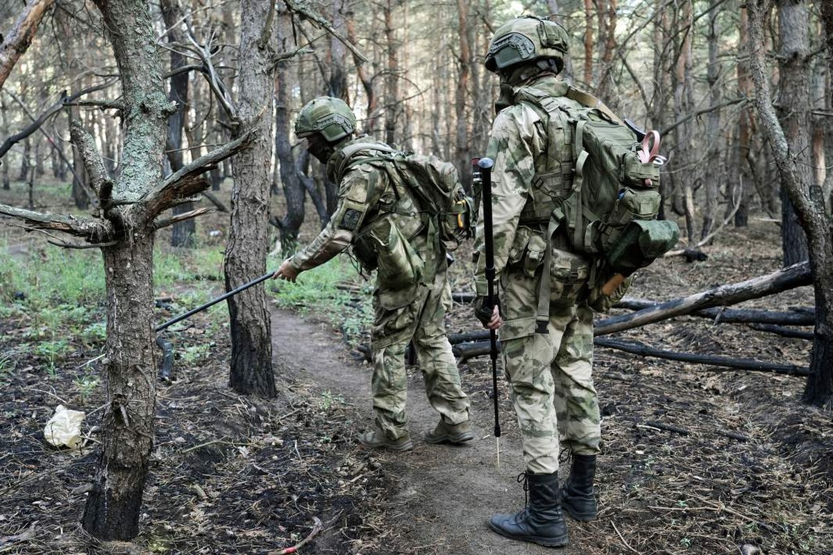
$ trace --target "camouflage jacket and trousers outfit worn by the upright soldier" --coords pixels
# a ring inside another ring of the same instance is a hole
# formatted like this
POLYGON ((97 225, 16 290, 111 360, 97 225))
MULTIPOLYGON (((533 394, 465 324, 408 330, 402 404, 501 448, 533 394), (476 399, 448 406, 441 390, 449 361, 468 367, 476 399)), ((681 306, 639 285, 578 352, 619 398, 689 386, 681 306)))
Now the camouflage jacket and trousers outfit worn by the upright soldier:
MULTIPOLYGON (((529 84, 553 97, 567 85, 555 77, 529 84)), ((561 100, 561 99, 560 99, 561 100)), ((568 102, 568 101, 566 101, 568 102)), ((564 116, 566 118, 566 114, 564 116)), ((506 107, 492 126, 486 156, 492 170, 492 222, 498 295, 504 324, 498 331, 502 360, 521 429, 526 470, 558 469, 561 441, 574 453, 599 453, 601 426, 591 369, 592 310, 586 304, 591 260, 568 250, 556 234, 551 265, 543 268, 546 222, 521 225, 528 203, 541 200, 536 175, 546 167, 546 125, 528 103, 506 107), (550 316, 546 334, 536 334, 537 288, 549 272, 550 316)), ((565 129, 569 126, 564 121, 565 129)), ((571 137, 565 137, 571 141, 571 137)), ((548 176, 549 186, 553 176, 548 176)), ((486 295, 482 211, 477 224, 477 295, 486 295)))

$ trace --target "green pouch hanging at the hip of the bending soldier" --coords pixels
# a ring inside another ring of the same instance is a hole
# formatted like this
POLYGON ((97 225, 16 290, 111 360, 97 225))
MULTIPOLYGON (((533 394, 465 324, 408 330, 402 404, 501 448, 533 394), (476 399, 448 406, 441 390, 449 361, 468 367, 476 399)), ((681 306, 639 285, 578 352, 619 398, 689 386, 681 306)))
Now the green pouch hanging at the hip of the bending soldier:
POLYGON ((383 218, 367 236, 377 252, 377 283, 381 289, 399 290, 422 280, 425 263, 391 219, 383 218))

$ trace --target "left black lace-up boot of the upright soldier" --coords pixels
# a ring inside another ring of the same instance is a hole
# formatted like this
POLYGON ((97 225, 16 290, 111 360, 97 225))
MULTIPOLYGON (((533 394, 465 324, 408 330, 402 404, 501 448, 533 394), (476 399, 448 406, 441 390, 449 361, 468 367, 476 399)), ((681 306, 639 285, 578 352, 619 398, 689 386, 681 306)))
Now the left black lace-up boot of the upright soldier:
MULTIPOLYGON (((559 503, 558 473, 521 474, 529 503, 520 513, 496 514, 489 528, 506 538, 561 548, 569 543, 564 513, 559 503)), ((521 477, 518 481, 521 481, 521 477)))

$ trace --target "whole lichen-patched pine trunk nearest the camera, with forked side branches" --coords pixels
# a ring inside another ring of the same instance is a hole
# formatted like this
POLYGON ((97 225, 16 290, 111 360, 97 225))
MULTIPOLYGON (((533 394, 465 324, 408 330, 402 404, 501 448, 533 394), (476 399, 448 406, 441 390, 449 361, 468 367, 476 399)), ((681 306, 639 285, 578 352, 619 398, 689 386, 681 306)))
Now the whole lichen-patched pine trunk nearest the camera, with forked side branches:
MULTIPOLYGON (((122 81, 125 130, 112 196, 117 244, 102 248, 107 284, 102 444, 83 528, 100 539, 138 533, 153 445, 156 346, 152 331, 153 226, 142 199, 159 184, 170 105, 162 88, 150 7, 143 0, 95 0, 122 81), (121 32, 130 29, 132 32, 121 32)), ((80 157, 80 156, 79 156, 80 157)))

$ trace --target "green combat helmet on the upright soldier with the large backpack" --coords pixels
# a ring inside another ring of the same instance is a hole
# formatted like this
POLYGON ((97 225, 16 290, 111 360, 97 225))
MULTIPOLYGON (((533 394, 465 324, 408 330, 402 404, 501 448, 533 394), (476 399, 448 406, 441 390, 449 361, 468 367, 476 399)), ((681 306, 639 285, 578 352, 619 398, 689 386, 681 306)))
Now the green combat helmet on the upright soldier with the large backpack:
POLYGON ((496 73, 517 63, 552 58, 561 72, 568 40, 565 28, 556 22, 536 16, 517 17, 498 27, 491 37, 486 69, 496 73))

